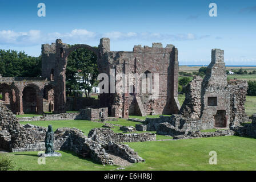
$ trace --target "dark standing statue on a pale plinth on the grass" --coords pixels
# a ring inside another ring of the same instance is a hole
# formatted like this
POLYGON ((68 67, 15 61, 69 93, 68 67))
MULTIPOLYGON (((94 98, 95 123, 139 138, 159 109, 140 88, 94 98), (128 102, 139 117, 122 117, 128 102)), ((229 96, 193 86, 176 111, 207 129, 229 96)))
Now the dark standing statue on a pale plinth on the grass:
POLYGON ((53 127, 51 125, 48 126, 48 130, 45 135, 45 153, 39 154, 41 157, 60 157, 61 153, 54 152, 54 133, 53 127))

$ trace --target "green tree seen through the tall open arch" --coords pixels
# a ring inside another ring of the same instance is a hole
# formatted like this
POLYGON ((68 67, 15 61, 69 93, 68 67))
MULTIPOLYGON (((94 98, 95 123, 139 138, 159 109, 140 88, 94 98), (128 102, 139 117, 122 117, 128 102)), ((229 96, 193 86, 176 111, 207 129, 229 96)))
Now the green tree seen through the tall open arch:
POLYGON ((66 69, 66 91, 72 95, 74 90, 86 90, 90 97, 91 89, 97 81, 97 56, 85 48, 75 49, 70 53, 66 69))

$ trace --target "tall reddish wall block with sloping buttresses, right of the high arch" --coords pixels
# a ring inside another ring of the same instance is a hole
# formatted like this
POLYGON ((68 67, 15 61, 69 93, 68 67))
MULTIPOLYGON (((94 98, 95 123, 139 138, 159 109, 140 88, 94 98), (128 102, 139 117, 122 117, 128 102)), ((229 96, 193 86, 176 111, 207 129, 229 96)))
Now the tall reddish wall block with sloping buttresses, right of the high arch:
MULTIPOLYGON (((109 70, 115 69, 115 74, 159 74, 159 97, 156 99, 148 93, 140 93, 141 85, 140 88, 135 88, 137 98, 133 94, 111 94, 110 107, 113 116, 178 113, 179 103, 177 98, 174 98, 178 97, 178 82, 174 81, 178 79, 177 48, 172 45, 163 48, 161 43, 153 43, 152 47, 135 46, 133 52, 111 51, 107 52, 107 55, 109 70)), ((110 71, 108 73, 110 74, 110 71)), ((127 83, 127 87, 130 85, 135 85, 135 81, 127 83)))

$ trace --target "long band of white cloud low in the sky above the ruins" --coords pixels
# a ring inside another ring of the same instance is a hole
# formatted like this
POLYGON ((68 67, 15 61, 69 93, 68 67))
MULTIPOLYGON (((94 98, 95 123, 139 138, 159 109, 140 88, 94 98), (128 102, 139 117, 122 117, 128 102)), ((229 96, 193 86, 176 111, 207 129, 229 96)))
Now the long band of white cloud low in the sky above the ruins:
POLYGON ((197 36, 195 34, 161 34, 158 32, 119 32, 111 31, 105 33, 92 32, 85 29, 74 29, 70 32, 49 32, 44 33, 40 30, 30 30, 27 32, 15 32, 12 30, 0 31, 0 44, 9 46, 35 46, 42 43, 55 42, 56 39, 62 39, 63 42, 86 43, 89 41, 99 40, 102 37, 107 37, 114 40, 152 40, 161 41, 182 41, 182 40, 197 40, 207 38, 209 35, 197 36))

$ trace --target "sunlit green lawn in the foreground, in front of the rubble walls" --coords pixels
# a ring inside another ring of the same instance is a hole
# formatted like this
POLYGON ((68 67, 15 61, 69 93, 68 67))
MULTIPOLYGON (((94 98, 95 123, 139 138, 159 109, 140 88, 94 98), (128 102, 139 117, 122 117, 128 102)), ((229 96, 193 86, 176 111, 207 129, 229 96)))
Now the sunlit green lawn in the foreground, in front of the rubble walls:
MULTIPOLYGON (((256 140, 245 137, 211 137, 163 142, 127 143, 146 161, 126 170, 256 170, 256 140), (217 165, 209 164, 209 152, 217 152, 217 165)), ((16 168, 23 170, 110 170, 117 166, 101 166, 81 159, 72 152, 61 158, 46 158, 38 165, 37 152, 7 153, 16 168)), ((3 155, 3 154, 2 154, 3 155)))

